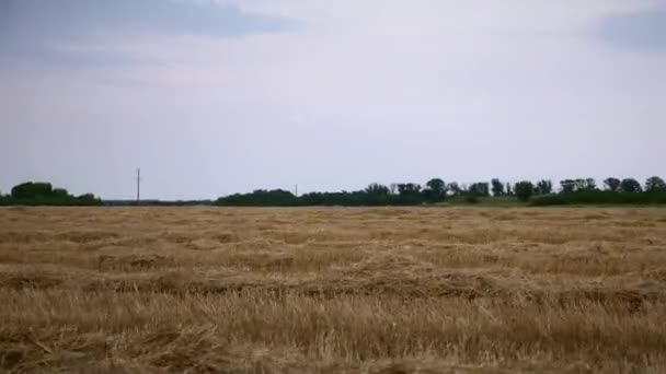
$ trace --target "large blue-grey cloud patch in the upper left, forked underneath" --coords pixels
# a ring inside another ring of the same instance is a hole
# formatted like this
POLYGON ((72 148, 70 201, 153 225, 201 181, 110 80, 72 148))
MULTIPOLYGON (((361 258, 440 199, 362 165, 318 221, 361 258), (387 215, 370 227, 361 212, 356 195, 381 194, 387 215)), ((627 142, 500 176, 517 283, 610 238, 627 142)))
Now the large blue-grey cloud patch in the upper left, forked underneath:
MULTIPOLYGON (((3 0, 0 1, 0 60, 47 62, 74 68, 136 63, 72 45, 104 36, 194 35, 237 38, 291 33, 299 21, 243 11, 214 1, 175 0, 3 0)), ((103 40, 103 39, 102 39, 103 40)))

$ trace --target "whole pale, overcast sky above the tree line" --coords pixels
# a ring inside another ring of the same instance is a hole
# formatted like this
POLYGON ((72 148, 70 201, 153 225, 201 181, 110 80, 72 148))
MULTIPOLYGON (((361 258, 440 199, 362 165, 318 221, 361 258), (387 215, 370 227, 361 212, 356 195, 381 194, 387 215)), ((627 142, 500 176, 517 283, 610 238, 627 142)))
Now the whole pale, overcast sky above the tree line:
POLYGON ((666 0, 0 0, 0 190, 666 177, 666 0))

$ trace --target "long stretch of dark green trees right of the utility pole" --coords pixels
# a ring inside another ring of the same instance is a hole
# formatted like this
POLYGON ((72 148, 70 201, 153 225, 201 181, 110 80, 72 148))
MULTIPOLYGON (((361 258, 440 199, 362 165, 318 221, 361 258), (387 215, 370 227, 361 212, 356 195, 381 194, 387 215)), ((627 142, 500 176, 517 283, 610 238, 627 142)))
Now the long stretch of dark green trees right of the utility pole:
POLYGON ((553 183, 523 180, 503 183, 498 178, 469 185, 445 183, 433 178, 424 186, 415 183, 370 184, 357 191, 310 192, 296 196, 284 189, 259 189, 251 194, 236 194, 219 198, 219 206, 414 206, 438 203, 455 199, 476 203, 482 199, 509 197, 535 206, 574 203, 666 203, 666 183, 658 176, 650 177, 644 186, 634 178, 609 177, 598 187, 594 178, 564 179, 555 191, 553 183))

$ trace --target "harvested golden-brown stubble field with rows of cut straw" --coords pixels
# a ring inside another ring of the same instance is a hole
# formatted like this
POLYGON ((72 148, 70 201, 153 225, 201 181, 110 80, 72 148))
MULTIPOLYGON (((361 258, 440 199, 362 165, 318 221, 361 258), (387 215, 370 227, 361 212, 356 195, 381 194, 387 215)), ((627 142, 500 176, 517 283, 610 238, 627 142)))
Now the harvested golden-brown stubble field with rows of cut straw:
POLYGON ((665 373, 666 209, 0 209, 0 372, 665 373))

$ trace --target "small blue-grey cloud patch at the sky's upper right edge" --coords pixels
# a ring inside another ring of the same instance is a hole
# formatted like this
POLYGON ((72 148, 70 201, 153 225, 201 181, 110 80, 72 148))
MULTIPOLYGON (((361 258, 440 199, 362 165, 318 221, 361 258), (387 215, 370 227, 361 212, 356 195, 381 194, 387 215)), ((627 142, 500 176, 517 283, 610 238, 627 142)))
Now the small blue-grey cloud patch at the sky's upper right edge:
POLYGON ((605 17, 598 35, 620 49, 666 51, 666 8, 605 17))

